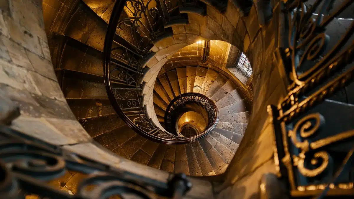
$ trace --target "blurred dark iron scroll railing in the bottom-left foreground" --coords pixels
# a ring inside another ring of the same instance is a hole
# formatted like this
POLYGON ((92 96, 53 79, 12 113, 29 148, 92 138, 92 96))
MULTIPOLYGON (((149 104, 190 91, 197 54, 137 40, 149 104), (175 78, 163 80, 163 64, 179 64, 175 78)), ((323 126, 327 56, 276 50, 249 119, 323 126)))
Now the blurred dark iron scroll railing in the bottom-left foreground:
POLYGON ((166 182, 155 181, 115 169, 69 150, 46 143, 0 125, 0 198, 19 199, 35 194, 40 198, 100 199, 119 195, 135 198, 182 198, 191 183, 184 174, 166 182), (88 174, 70 194, 50 186, 67 171, 88 174), (88 189, 90 188, 90 189, 88 189))

